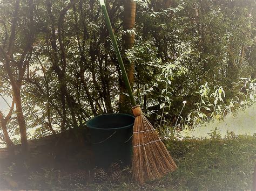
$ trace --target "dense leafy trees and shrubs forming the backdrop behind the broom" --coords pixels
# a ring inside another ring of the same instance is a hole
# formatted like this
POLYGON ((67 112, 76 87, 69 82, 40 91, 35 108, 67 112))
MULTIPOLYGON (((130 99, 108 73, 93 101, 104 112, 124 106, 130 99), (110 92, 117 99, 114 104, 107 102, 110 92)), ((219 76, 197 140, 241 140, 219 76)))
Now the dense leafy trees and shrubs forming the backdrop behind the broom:
MULTIPOLYGON (((92 116, 119 111, 120 69, 98 2, 32 2, 35 42, 21 87, 30 138, 78 128, 92 116)), ((134 63, 137 102, 156 126, 180 126, 187 115, 198 122, 225 115, 222 111, 232 108, 231 100, 238 96, 232 82, 255 78, 253 1, 138 1, 136 26, 127 31, 122 29, 122 1, 106 4, 121 49, 122 35, 136 34, 134 46, 122 52, 134 63), (200 100, 199 84, 204 84, 200 100), (215 87, 214 93, 208 94, 207 87, 215 87)), ((22 1, 19 9, 21 31, 28 27, 28 5, 22 1)), ((9 38, 14 6, 2 1, 1 46, 9 38)), ((18 34, 17 58, 28 39, 18 34)), ((12 97, 1 63, 0 93, 12 97)), ((250 101, 253 94, 245 96, 243 101, 250 101)), ((16 117, 8 131, 17 138, 16 117)))

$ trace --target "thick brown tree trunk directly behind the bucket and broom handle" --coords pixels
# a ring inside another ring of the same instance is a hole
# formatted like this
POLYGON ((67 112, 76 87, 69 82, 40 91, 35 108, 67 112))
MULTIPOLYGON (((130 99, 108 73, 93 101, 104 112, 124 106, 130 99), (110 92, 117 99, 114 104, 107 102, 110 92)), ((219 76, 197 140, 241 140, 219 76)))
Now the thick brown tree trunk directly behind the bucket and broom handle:
MULTIPOLYGON (((123 30, 132 30, 135 24, 136 3, 131 0, 124 1, 124 15, 123 15, 123 30)), ((134 83, 134 63, 131 63, 125 56, 125 50, 132 48, 134 44, 134 33, 124 33, 123 35, 123 61, 126 68, 127 76, 129 78, 131 88, 134 83)), ((120 82, 120 98, 119 110, 120 112, 131 112, 131 101, 128 96, 123 80, 120 82)))

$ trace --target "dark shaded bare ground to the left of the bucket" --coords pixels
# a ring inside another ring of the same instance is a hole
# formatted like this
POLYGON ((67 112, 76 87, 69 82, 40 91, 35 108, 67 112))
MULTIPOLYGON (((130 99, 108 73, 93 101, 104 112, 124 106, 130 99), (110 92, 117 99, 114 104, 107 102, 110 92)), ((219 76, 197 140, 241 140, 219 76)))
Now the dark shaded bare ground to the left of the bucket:
POLYGON ((11 150, 0 149, 0 189, 31 189, 31 175, 63 178, 83 172, 90 176, 96 169, 86 131, 81 129, 31 140, 26 154, 22 153, 21 145, 11 150))

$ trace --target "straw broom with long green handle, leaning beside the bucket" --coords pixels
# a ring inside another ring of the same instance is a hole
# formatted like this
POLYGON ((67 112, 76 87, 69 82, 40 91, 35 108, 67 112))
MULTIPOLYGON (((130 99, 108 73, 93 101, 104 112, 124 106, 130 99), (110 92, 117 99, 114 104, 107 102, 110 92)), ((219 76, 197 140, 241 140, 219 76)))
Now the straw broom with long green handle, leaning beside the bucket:
POLYGON ((132 93, 131 85, 126 74, 122 56, 119 52, 116 38, 107 14, 104 0, 99 0, 109 29, 110 37, 117 54, 118 63, 122 70, 122 77, 131 98, 133 115, 135 116, 133 126, 133 159, 132 159, 132 178, 139 183, 147 180, 161 178, 165 174, 175 171, 177 166, 170 153, 167 151, 163 142, 151 123, 143 115, 142 109, 136 104, 132 93))

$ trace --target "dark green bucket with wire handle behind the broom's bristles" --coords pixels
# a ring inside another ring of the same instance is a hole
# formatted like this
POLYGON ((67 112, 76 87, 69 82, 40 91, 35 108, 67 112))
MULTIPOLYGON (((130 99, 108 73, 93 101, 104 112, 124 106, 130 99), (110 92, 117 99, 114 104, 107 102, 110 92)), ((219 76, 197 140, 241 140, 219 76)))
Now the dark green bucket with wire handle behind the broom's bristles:
POLYGON ((90 130, 95 165, 107 167, 112 162, 131 162, 134 117, 127 114, 105 114, 91 118, 90 130))

